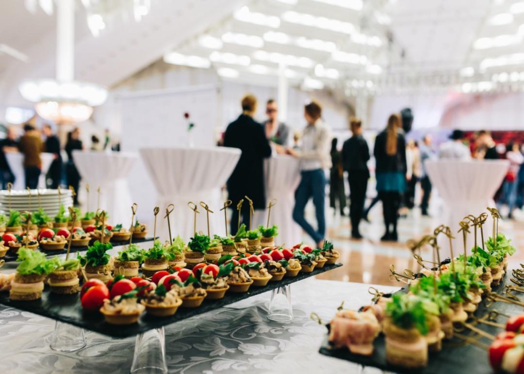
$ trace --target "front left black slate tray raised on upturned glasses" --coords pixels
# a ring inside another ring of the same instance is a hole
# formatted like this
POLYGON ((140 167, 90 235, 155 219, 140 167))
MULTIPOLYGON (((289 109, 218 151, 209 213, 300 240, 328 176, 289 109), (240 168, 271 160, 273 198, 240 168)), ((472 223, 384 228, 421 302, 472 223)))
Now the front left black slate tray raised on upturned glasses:
MULTIPOLYGON (((40 300, 35 301, 12 301, 9 300, 9 293, 0 293, 0 304, 15 307, 22 311, 35 313, 44 317, 59 320, 71 325, 79 326, 96 333, 108 335, 114 338, 125 338, 144 333, 147 330, 160 328, 182 319, 193 317, 202 313, 213 311, 216 308, 226 306, 245 298, 274 290, 303 279, 315 276, 326 271, 330 271, 342 266, 341 263, 324 265, 322 269, 315 269, 312 273, 299 273, 296 277, 284 277, 278 282, 269 282, 264 287, 249 287, 248 292, 232 293, 227 292, 220 300, 204 300, 198 308, 180 307, 176 314, 171 317, 151 317, 144 313, 138 323, 129 326, 115 326, 104 322, 104 317, 100 313, 86 313, 80 306, 80 297, 75 295, 56 295, 51 294, 47 288, 40 300)), ((46 286, 47 287, 47 286, 46 286)))

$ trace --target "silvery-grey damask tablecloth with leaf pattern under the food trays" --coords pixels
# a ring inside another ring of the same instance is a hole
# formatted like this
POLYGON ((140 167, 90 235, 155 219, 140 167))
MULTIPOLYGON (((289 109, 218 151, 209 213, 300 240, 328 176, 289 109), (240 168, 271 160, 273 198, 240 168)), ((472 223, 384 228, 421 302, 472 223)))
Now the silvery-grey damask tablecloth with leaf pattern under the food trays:
MULTIPOLYGON (((336 307, 367 304, 368 284, 309 279, 293 284, 294 318, 278 323, 266 318, 269 293, 166 327, 166 358, 171 373, 380 373, 318 353, 326 334, 310 319, 318 313, 328 322, 336 307)), ((376 286, 392 292, 395 287, 376 286)), ((0 305, 2 373, 129 372, 134 338, 113 339, 86 332, 87 346, 56 352, 48 339, 54 321, 0 305)))

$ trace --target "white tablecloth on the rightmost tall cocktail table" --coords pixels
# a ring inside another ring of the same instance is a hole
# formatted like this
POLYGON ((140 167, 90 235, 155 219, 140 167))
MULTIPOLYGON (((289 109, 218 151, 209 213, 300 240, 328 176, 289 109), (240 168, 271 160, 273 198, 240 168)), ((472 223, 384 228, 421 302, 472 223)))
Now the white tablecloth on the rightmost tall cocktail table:
MULTIPOLYGON (((495 195, 500 184, 508 171, 509 162, 506 160, 485 161, 426 161, 425 167, 433 186, 439 190, 444 200, 443 223, 450 226, 455 240, 453 248, 457 255, 462 253, 464 245, 462 234, 457 234, 459 222, 472 214, 478 216, 482 212, 489 212, 486 207, 494 208, 495 195)), ((484 225, 484 238, 487 239, 492 232, 491 217, 484 225)), ((471 229, 473 234, 473 229, 471 229)), ((473 247, 472 234, 468 236, 470 242, 468 247, 473 247)), ((480 233, 477 232, 478 244, 480 245, 480 233)), ((439 240, 442 245, 441 256, 449 255, 449 241, 442 237, 439 240)))

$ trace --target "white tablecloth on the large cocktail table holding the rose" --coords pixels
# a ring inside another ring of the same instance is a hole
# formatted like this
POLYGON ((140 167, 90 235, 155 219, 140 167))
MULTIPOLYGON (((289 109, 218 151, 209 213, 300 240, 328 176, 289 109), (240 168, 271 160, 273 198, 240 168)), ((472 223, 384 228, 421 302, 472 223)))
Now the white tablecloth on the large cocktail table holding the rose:
MULTIPOLYGON (((189 201, 198 205, 196 230, 207 233, 205 210, 199 202, 204 201, 214 211, 210 213, 211 235, 225 235, 224 212, 220 188, 233 172, 241 151, 236 148, 143 148, 140 155, 158 191, 160 207, 157 236, 168 239, 165 209, 174 204, 170 215, 171 233, 189 240, 193 232, 193 211, 189 201)), ((152 233, 152 231, 151 231, 152 233)))

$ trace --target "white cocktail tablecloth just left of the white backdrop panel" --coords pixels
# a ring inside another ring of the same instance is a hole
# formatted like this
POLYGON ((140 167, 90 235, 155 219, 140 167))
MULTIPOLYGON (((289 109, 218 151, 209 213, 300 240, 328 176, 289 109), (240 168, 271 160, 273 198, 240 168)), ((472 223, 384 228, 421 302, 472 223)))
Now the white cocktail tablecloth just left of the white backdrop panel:
MULTIPOLYGON (((85 210, 95 211, 97 192, 100 187, 100 208, 110 215, 110 222, 131 223, 131 206, 133 200, 129 192, 126 177, 138 159, 135 153, 73 151, 73 159, 82 176, 82 184, 89 183, 89 207, 85 210)), ((80 189, 80 197, 86 204, 85 188, 80 189)))

